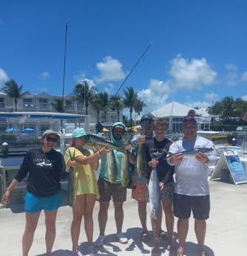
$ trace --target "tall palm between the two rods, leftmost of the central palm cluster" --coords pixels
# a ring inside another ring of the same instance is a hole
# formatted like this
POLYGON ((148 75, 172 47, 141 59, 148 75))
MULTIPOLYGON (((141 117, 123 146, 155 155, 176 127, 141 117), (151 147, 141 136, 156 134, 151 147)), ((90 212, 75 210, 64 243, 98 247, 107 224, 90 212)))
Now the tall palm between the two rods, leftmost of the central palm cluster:
POLYGON ((86 108, 86 115, 88 114, 89 101, 96 92, 97 92, 96 86, 92 85, 90 87, 86 80, 75 85, 73 94, 78 96, 79 99, 83 100, 86 108))

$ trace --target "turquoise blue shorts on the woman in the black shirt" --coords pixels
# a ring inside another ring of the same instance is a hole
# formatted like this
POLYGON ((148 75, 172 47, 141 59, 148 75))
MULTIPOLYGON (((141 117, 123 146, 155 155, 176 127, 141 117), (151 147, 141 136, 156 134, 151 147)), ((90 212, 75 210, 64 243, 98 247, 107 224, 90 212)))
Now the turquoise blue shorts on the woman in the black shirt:
POLYGON ((36 197, 27 192, 25 198, 25 211, 37 212, 44 209, 44 211, 54 211, 61 206, 61 192, 53 194, 50 197, 36 197))

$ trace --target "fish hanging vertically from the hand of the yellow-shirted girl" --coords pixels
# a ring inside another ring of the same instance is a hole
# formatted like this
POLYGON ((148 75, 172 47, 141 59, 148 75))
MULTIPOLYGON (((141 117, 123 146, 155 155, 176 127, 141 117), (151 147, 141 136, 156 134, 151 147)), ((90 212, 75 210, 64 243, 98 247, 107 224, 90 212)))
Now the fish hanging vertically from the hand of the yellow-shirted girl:
MULTIPOLYGON (((69 151, 70 154, 70 151, 69 151)), ((70 154, 70 160, 74 160, 75 150, 73 156, 70 154)), ((70 166, 70 172, 68 177, 68 203, 69 206, 73 207, 76 200, 76 175, 75 169, 70 166)))

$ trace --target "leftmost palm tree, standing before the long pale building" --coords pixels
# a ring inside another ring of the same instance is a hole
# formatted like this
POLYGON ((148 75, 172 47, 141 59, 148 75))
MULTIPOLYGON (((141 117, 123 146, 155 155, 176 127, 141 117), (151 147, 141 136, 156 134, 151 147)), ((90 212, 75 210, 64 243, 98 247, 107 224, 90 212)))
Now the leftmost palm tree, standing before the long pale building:
POLYGON ((18 99, 21 99, 22 96, 30 93, 29 91, 25 91, 24 93, 21 93, 22 88, 23 88, 23 85, 18 87, 18 85, 14 79, 10 79, 9 81, 7 81, 5 83, 5 86, 3 88, 1 88, 1 90, 4 91, 4 93, 7 93, 8 96, 10 96, 12 99, 14 99, 16 111, 17 111, 18 99))

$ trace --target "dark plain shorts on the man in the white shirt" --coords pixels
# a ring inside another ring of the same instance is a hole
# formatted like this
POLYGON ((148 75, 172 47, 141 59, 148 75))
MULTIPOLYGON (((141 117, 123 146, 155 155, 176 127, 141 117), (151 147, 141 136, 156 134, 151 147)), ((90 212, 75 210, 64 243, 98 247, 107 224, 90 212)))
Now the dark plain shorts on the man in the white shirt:
POLYGON ((173 213, 175 217, 188 219, 191 211, 194 219, 206 220, 209 218, 210 199, 207 196, 187 196, 185 194, 173 195, 173 213))

